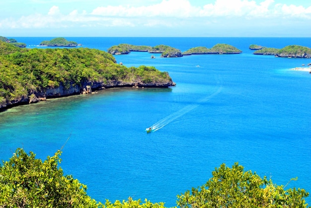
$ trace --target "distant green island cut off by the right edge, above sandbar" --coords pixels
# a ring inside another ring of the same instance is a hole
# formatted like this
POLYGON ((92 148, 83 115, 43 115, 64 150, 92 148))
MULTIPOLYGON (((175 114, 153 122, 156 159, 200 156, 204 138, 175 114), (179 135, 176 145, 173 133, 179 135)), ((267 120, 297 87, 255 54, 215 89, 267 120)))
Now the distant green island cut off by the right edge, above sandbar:
POLYGON ((311 48, 299 45, 289 45, 282 49, 263 48, 255 51, 255 55, 274 55, 275 57, 311 58, 311 48))

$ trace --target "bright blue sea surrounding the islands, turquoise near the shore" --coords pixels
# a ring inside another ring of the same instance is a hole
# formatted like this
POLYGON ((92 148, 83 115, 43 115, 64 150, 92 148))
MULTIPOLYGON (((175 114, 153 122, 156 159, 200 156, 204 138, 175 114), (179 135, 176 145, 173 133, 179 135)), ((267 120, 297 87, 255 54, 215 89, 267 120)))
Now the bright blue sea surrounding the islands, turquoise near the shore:
MULTIPOLYGON (((10 37, 40 47, 54 37, 10 37)), ((311 47, 311 38, 66 37, 85 48, 168 45, 182 52, 226 43, 234 55, 160 58, 117 55, 126 67, 154 66, 176 86, 113 88, 48 99, 0 112, 0 160, 18 147, 60 167, 102 203, 132 197, 176 206, 177 195, 204 185, 212 171, 238 162, 277 185, 311 192, 311 74, 291 70, 311 59, 254 55, 257 44, 311 47), (146 128, 156 131, 147 134, 146 128), (68 139, 68 141, 67 141, 68 139), (67 141, 67 142, 66 142, 67 141)), ((311 198, 307 198, 311 204, 311 198)))

